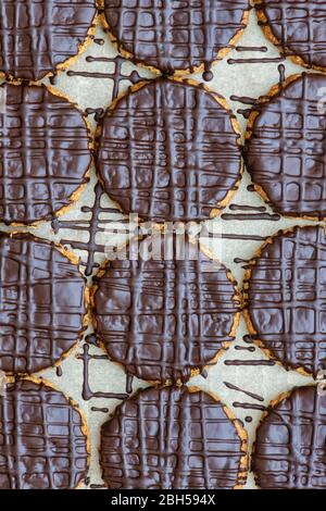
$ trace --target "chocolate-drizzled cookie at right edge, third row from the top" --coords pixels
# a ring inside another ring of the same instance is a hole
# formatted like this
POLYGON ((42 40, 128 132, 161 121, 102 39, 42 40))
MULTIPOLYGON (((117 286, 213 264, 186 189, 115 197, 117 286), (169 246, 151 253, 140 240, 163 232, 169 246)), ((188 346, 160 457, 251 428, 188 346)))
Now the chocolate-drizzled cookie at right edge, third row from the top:
POLYGON ((321 226, 269 239, 244 277, 254 340, 287 369, 326 369, 326 237, 321 226))

